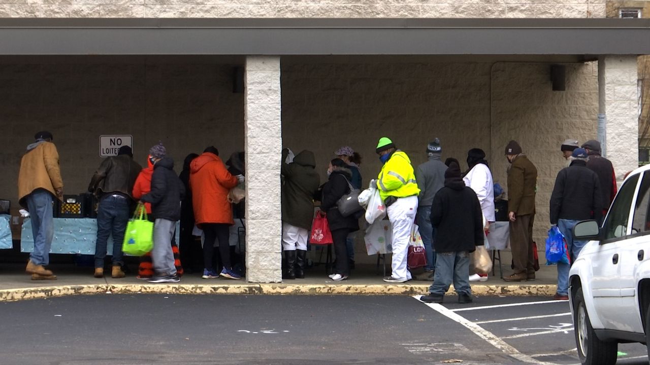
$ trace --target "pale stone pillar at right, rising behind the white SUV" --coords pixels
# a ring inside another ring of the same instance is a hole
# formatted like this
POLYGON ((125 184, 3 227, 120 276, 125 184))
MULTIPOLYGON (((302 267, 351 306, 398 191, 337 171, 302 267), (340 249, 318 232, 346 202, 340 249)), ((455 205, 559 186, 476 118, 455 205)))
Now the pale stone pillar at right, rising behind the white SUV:
POLYGON ((606 118, 603 155, 612 161, 617 181, 638 167, 637 82, 636 56, 598 58, 599 112, 606 118))

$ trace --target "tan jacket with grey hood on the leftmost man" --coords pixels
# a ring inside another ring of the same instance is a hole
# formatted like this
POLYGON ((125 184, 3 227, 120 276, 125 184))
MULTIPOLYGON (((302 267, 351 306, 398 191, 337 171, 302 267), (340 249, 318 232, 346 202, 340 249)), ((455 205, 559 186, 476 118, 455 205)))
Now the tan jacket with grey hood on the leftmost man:
POLYGON ((59 168, 59 152, 52 142, 38 140, 27 146, 27 152, 20 160, 18 173, 18 202, 27 208, 27 195, 43 189, 57 196, 56 190, 63 188, 59 168))

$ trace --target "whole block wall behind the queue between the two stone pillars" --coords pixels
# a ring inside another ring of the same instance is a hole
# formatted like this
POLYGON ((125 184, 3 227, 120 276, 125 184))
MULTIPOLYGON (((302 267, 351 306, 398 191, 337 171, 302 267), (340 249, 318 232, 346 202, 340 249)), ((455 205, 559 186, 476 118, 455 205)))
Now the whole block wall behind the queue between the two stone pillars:
MULTIPOLYGON (((567 65, 567 90, 553 92, 550 64, 517 63, 330 63, 282 67, 283 144, 296 153, 311 149, 326 179, 328 161, 341 145, 364 157, 364 183, 376 177, 374 149, 389 136, 411 158, 426 160, 426 144, 440 138, 443 160, 467 151, 487 153, 495 182, 506 188, 504 157, 515 139, 539 169, 535 239, 543 249, 549 227, 549 199, 556 174, 565 166, 560 144, 595 138, 597 67, 567 65)), ((357 260, 368 260, 363 234, 357 260)), ((372 260, 371 257, 370 260, 372 260)), ((369 262, 370 262, 369 260, 369 262)))

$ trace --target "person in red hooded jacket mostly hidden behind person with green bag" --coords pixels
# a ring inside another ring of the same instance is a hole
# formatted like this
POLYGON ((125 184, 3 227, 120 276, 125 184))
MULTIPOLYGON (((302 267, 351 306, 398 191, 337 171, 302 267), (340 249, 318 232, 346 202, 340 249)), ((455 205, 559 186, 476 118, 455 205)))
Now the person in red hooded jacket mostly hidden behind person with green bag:
MULTIPOLYGON (((147 167, 140 171, 133 184, 133 199, 140 200, 142 195, 151 192, 151 175, 153 175, 153 157, 147 156, 147 167)), ((144 203, 144 202, 143 202, 144 203)), ((149 221, 154 221, 151 214, 151 203, 144 203, 144 209, 149 215, 149 221)), ((138 212, 139 213, 139 212, 138 212)), ((183 266, 181 266, 181 256, 178 245, 176 245, 175 235, 172 236, 172 252, 174 253, 174 266, 176 266, 176 275, 183 276, 183 266)), ((138 266, 138 279, 149 279, 153 277, 153 262, 151 262, 151 252, 145 253, 140 257, 140 266, 138 266)))

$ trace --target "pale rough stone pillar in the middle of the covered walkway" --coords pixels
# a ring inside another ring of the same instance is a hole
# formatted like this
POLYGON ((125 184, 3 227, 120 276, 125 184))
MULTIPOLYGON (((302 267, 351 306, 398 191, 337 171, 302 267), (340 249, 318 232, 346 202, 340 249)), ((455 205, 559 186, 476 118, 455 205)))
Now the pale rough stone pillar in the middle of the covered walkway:
POLYGON ((281 264, 280 58, 246 57, 246 279, 279 283, 281 264))

